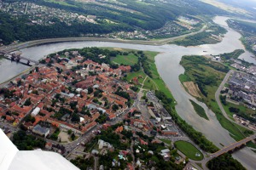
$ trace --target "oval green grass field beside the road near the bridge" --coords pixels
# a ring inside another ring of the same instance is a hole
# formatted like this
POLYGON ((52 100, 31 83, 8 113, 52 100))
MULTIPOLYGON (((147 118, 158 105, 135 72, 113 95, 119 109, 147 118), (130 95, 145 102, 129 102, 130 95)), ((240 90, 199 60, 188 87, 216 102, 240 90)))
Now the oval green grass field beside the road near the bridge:
POLYGON ((189 142, 177 141, 174 144, 177 150, 183 152, 183 154, 185 156, 188 156, 189 159, 201 161, 204 158, 201 151, 197 150, 197 148, 195 148, 195 146, 193 144, 190 144, 189 142), (200 154, 200 156, 195 156, 196 153, 200 154))

